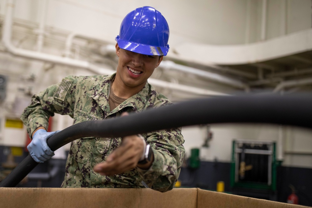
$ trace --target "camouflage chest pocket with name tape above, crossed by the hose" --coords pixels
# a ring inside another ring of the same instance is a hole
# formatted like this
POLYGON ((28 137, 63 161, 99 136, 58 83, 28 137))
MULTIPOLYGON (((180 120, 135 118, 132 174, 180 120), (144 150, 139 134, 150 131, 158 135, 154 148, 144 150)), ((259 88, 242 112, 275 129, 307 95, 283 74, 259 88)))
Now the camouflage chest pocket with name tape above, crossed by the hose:
MULTIPOLYGON (((98 117, 85 113, 78 112, 74 115, 74 124, 80 123, 88 120, 97 120, 98 117)), ((86 164, 90 157, 90 152, 94 148, 95 138, 94 137, 86 137, 81 139, 76 139, 71 143, 71 156, 79 163, 86 164)))

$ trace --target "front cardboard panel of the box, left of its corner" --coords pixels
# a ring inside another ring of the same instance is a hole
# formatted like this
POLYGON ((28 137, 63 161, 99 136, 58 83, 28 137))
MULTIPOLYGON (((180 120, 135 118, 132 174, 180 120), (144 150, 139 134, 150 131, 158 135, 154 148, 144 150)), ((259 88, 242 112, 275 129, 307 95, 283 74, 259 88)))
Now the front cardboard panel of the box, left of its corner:
POLYGON ((190 207, 196 188, 161 193, 149 188, 0 188, 1 207, 190 207))

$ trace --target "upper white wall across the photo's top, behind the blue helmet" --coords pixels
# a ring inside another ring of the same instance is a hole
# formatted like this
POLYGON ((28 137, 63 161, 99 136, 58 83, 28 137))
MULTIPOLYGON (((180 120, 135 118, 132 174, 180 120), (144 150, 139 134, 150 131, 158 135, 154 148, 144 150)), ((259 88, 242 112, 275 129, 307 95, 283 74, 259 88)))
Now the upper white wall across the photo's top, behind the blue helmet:
MULTIPOLYGON (((166 17, 170 26, 170 46, 185 41, 243 44, 247 36, 248 42, 261 40, 262 2, 47 0, 46 25, 114 42, 125 14, 136 7, 149 5, 166 17)), ((6 0, 0 0, 1 14, 5 14, 5 5, 6 0)), ((38 8, 39 0, 17 0, 14 16, 39 22, 38 8)), ((267 0, 266 8, 267 39, 311 27, 310 0, 267 0)))

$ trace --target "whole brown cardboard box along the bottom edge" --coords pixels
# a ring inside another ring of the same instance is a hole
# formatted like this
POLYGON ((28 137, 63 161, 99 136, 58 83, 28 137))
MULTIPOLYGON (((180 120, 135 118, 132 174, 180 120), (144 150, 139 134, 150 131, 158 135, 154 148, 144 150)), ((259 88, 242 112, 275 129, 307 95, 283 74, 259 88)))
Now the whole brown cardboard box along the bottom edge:
POLYGON ((0 207, 296 208, 305 206, 198 188, 174 188, 165 193, 149 188, 0 188, 0 207))

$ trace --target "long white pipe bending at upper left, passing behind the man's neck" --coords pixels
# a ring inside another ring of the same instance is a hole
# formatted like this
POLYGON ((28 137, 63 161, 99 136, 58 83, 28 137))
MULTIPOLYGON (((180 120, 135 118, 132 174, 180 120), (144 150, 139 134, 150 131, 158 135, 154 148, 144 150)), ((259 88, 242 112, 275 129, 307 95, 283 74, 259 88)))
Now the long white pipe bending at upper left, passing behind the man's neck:
MULTIPOLYGON (((25 50, 22 48, 16 48, 11 43, 14 6, 15 6, 15 0, 7 1, 7 13, 6 13, 5 21, 4 21, 3 32, 2 32, 3 33, 2 43, 6 51, 11 53, 12 55, 34 59, 34 60, 46 61, 46 62, 60 64, 60 65, 67 65, 67 66, 81 68, 81 69, 86 69, 96 74, 111 75, 115 73, 114 70, 101 68, 87 61, 75 60, 69 57, 55 56, 55 55, 50 55, 50 54, 41 53, 37 51, 30 51, 30 50, 25 50)), ((74 37, 75 35, 73 34, 72 36, 74 37)), ((218 93, 218 92, 214 92, 211 90, 189 87, 186 85, 179 85, 179 84, 169 83, 169 82, 165 82, 161 80, 149 79, 149 83, 152 85, 163 86, 163 87, 167 87, 171 89, 180 89, 182 91, 193 93, 193 94, 224 95, 223 93, 218 93)))

